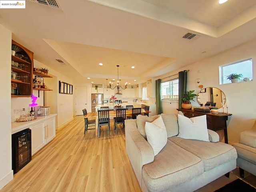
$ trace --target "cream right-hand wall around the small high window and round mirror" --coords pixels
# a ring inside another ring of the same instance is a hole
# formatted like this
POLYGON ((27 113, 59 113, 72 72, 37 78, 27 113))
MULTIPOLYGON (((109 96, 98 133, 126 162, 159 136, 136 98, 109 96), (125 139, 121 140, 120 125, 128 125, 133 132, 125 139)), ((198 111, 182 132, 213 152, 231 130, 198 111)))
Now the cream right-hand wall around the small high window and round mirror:
MULTIPOLYGON (((170 76, 177 74, 182 70, 188 72, 188 88, 187 90, 198 90, 197 78, 201 79, 200 84, 204 87, 216 87, 224 92, 228 98, 228 112, 232 116, 228 117, 228 140, 231 143, 239 141, 239 133, 252 127, 256 120, 256 103, 254 98, 256 95, 256 40, 242 44, 223 52, 221 54, 206 58, 196 62, 185 68, 180 68, 170 74, 162 76, 170 76), (245 58, 252 58, 253 62, 253 81, 239 82, 233 84, 219 84, 219 66, 236 62, 245 58)), ((163 105, 168 103, 163 102, 163 105)), ((199 106, 197 102, 192 102, 193 106, 199 106)), ((173 110, 164 106, 164 113, 170 113, 173 110)), ((222 109, 219 110, 222 112, 222 109)), ((225 109, 226 111, 226 109, 225 109)))

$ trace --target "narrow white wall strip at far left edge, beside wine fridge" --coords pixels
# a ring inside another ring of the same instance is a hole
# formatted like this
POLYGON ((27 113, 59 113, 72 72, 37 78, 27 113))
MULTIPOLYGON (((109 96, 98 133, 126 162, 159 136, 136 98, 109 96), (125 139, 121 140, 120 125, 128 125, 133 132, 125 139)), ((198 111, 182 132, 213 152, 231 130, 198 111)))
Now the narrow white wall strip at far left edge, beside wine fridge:
POLYGON ((0 25, 0 189, 13 178, 11 127, 11 46, 12 32, 0 25))

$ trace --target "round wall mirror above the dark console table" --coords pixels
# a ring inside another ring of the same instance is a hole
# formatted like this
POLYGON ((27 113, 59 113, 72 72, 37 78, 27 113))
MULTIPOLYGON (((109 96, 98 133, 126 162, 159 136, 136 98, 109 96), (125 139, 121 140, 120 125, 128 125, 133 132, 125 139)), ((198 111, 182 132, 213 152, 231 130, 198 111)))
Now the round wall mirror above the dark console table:
POLYGON ((226 96, 216 87, 206 87, 197 94, 197 102, 200 106, 212 106, 219 109, 222 103, 226 102, 226 96))

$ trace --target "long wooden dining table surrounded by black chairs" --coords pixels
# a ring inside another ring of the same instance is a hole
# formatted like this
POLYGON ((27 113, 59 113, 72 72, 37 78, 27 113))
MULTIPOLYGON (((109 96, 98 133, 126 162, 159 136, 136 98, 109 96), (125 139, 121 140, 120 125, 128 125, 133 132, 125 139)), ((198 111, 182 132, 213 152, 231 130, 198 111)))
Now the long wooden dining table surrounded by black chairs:
MULTIPOLYGON (((141 109, 141 114, 150 113, 151 111, 141 109)), ((132 110, 126 110, 126 116, 132 116, 132 110)), ((116 117, 116 110, 109 110, 109 118, 112 119, 116 117)), ((84 115, 84 118, 88 118, 88 120, 95 118, 95 135, 98 136, 98 112, 88 112, 84 115)))

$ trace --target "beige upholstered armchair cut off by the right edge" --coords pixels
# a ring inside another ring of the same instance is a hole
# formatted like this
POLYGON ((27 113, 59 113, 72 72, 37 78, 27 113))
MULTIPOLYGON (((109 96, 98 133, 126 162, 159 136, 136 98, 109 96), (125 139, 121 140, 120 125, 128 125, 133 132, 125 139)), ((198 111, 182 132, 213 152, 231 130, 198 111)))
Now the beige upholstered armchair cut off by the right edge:
POLYGON ((234 143, 238 158, 240 177, 244 178, 244 170, 256 175, 256 122, 251 130, 240 133, 239 143, 234 143))

